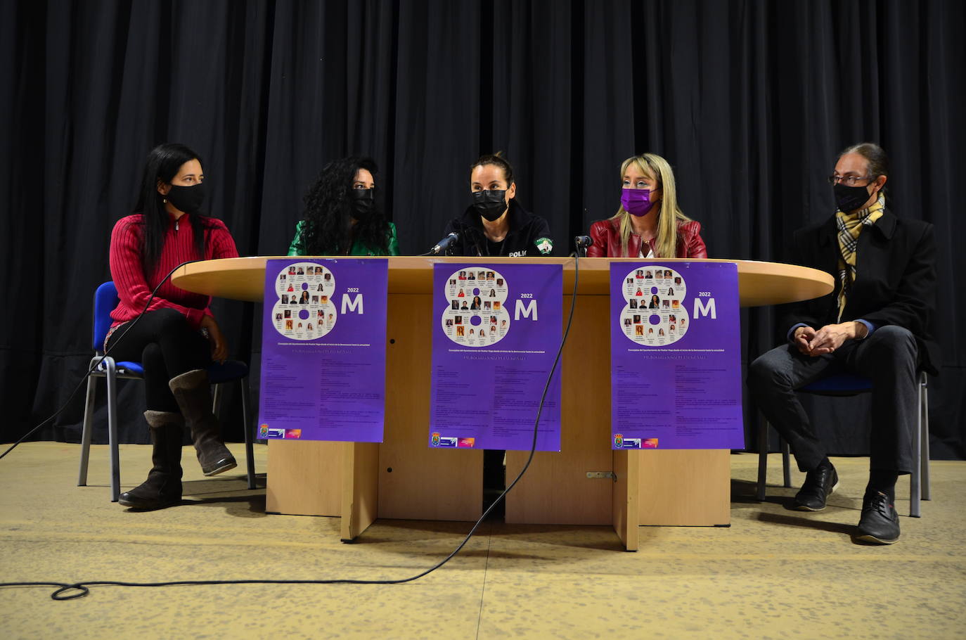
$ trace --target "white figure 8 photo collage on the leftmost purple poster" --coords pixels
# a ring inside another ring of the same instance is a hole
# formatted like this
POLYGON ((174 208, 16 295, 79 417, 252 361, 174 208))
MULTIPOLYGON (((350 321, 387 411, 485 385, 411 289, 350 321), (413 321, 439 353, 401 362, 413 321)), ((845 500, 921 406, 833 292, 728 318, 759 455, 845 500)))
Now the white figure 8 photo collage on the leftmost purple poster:
POLYGON ((271 309, 275 331, 295 340, 314 340, 335 327, 332 294, 335 276, 323 265, 299 262, 275 277, 277 299, 271 309))

